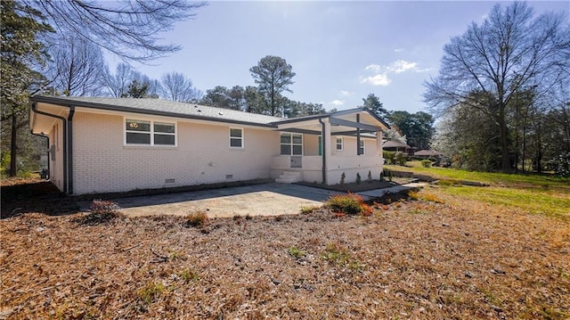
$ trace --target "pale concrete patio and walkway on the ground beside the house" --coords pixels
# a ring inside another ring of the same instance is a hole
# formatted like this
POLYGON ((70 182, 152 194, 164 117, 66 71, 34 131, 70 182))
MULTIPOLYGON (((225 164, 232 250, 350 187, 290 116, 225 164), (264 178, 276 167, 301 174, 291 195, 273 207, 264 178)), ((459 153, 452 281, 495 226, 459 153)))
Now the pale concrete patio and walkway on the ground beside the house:
MULTIPOLYGON (((397 193, 422 184, 359 193, 365 200, 385 193, 397 193)), ((425 185, 425 184, 423 184, 425 185)), ((185 216, 204 210, 208 217, 281 216, 298 214, 302 207, 321 207, 335 191, 305 185, 264 184, 221 188, 188 193, 157 194, 115 200, 119 211, 130 217, 151 215, 185 216)))

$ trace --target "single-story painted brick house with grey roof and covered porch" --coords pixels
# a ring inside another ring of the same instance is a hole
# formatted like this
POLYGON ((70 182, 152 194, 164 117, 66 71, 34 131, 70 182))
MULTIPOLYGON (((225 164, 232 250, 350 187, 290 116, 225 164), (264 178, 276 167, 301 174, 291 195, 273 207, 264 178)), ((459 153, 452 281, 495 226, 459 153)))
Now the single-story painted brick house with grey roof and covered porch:
POLYGON ((257 178, 335 185, 382 171, 387 124, 365 108, 282 119, 160 99, 30 98, 32 133, 49 140, 63 193, 257 178))

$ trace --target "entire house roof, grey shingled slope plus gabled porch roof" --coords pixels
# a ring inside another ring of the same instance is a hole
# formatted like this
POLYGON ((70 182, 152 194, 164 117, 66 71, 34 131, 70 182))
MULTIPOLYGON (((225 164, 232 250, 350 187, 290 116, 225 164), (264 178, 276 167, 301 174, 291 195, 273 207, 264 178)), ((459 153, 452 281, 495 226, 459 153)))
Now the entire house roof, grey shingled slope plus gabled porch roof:
MULTIPOLYGON (((68 97, 35 95, 29 99, 36 105, 39 115, 32 112, 30 127, 34 132, 46 132, 53 118, 42 116, 40 111, 61 114, 67 107, 88 108, 100 111, 128 112, 155 116, 199 119, 256 127, 277 128, 280 131, 297 131, 321 134, 321 119, 329 119, 331 134, 355 135, 357 128, 362 134, 373 133, 388 127, 387 123, 366 108, 338 111, 330 114, 283 119, 263 114, 209 107, 195 103, 178 103, 162 99, 134 99, 109 97, 68 97)), ((32 110, 33 111, 33 110, 32 110)))

